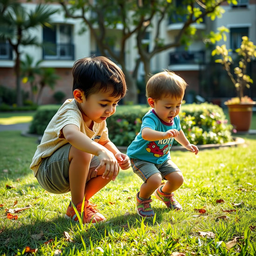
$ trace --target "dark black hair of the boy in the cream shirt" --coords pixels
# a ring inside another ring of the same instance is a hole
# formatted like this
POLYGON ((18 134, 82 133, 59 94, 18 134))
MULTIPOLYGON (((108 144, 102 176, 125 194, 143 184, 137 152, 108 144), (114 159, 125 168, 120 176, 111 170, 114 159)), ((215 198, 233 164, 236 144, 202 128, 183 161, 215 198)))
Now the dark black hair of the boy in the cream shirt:
POLYGON ((85 97, 113 86, 111 96, 123 98, 126 94, 125 76, 120 67, 103 56, 82 58, 73 66, 73 92, 80 89, 85 97))

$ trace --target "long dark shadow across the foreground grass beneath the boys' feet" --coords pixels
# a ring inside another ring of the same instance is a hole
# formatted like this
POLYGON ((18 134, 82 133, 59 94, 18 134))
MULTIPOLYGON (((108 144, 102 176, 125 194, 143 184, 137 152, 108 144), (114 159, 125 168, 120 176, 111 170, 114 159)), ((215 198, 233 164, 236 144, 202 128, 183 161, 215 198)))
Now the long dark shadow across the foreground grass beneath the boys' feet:
MULTIPOLYGON (((114 236, 121 236, 123 233, 128 234, 132 229, 143 230, 143 226, 154 228, 155 225, 162 221, 162 209, 156 209, 155 221, 153 218, 143 219, 136 213, 128 216, 118 216, 108 218, 106 222, 93 224, 86 224, 81 229, 79 223, 72 220, 67 220, 63 215, 54 217, 52 220, 36 220, 29 221, 22 224, 18 220, 10 220, 10 224, 6 226, 0 225, 0 252, 6 255, 17 255, 17 252, 22 252, 27 246, 31 249, 47 250, 47 247, 54 249, 63 247, 69 249, 76 248, 78 250, 84 249, 81 237, 89 249, 91 244, 95 247, 105 239, 109 240, 115 238, 114 236), (144 223, 144 225, 141 223, 144 223), (65 236, 67 232, 71 240, 65 236)), ((29 216, 28 216, 29 218, 29 216)), ((135 232, 136 233, 136 232, 135 232)), ((133 240, 134 235, 126 236, 127 239, 133 240)))

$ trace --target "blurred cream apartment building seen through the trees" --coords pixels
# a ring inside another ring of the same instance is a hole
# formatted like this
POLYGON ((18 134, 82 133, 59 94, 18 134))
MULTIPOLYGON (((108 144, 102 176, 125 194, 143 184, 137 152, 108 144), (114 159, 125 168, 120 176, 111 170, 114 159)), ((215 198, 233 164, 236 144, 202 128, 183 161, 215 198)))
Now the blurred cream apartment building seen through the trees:
MULTIPOLYGON (((176 1, 179 4, 180 1, 176 1)), ((35 3, 26 2, 27 9, 34 9, 35 3)), ((54 8, 61 10, 59 5, 52 5, 54 8)), ((238 0, 238 5, 222 4, 225 13, 222 18, 211 21, 205 19, 202 24, 195 24, 197 28, 198 39, 194 40, 188 49, 185 47, 171 48, 155 55, 150 62, 152 72, 158 72, 162 69, 170 69, 176 74, 181 75, 188 83, 189 88, 186 93, 186 100, 193 101, 193 97, 197 94, 202 95, 207 100, 218 97, 225 97, 222 92, 221 75, 216 72, 213 74, 210 66, 211 49, 207 49, 203 42, 203 34, 207 34, 210 30, 216 31, 217 27, 225 26, 230 30, 227 41, 220 41, 218 44, 225 43, 228 48, 235 49, 241 43, 241 37, 248 35, 250 40, 256 42, 256 0, 238 0), (214 76, 214 78, 212 78, 214 76), (216 85, 217 84, 217 85, 216 85)), ((162 24, 162 38, 167 41, 172 41, 182 27, 182 21, 185 17, 176 14, 176 21, 166 19, 162 24)), ((80 34, 80 20, 65 18, 63 12, 58 12, 53 15, 54 27, 38 27, 32 29, 31 33, 36 34, 41 42, 51 43, 51 47, 47 43, 43 47, 27 46, 21 47, 22 56, 26 53, 34 57, 34 63, 43 60, 41 67, 54 67, 56 73, 61 76, 57 81, 54 90, 46 87, 40 100, 41 104, 55 103, 53 94, 57 91, 62 91, 66 94, 66 98, 72 97, 72 66, 75 60, 92 54, 98 54, 97 44, 90 35, 89 30, 80 34)), ((110 33, 111 33, 111 29, 110 33)), ((117 33, 118 29, 112 33, 117 33)), ((152 47, 152 38, 155 33, 154 26, 147 33, 144 43, 149 49, 152 47)), ((119 50, 118 42, 115 45, 115 50, 119 50)), ((137 56, 135 38, 132 37, 126 46, 126 68, 130 71, 135 66, 137 56)), ((6 42, 0 42, 0 85, 10 88, 15 88, 14 76, 14 53, 11 47, 6 42)), ((256 72, 254 72, 256 73, 256 72)), ((143 78, 144 69, 141 64, 139 68, 138 80, 143 78)), ((28 83, 22 84, 24 90, 29 91, 28 83)), ((253 92, 253 96, 256 93, 253 92)), ((256 95, 255 95, 256 96, 256 95)))

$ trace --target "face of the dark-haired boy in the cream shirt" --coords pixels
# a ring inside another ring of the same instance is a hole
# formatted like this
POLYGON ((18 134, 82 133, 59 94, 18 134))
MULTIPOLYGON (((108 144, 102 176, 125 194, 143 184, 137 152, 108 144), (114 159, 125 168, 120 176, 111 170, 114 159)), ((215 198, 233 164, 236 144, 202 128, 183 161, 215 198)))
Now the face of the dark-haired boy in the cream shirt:
POLYGON ((113 89, 111 87, 106 92, 99 91, 95 94, 90 94, 87 98, 82 93, 82 101, 78 102, 78 104, 85 122, 101 123, 115 113, 120 97, 113 97, 111 96, 112 93, 113 89))

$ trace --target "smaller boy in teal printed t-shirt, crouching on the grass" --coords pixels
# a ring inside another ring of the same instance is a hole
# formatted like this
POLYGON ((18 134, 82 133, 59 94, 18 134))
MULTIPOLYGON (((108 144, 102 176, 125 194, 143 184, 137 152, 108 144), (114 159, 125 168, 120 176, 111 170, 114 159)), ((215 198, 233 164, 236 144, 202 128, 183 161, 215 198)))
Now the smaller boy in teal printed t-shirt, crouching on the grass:
POLYGON ((178 116, 186 87, 187 83, 170 71, 153 75, 147 83, 146 94, 152 109, 142 118, 141 130, 127 150, 133 171, 144 182, 136 195, 136 211, 142 217, 155 215, 150 205, 153 193, 169 209, 182 209, 173 192, 180 188, 184 178, 171 161, 169 150, 175 139, 195 155, 199 151, 184 135, 178 116), (162 179, 167 180, 164 185, 162 179))

